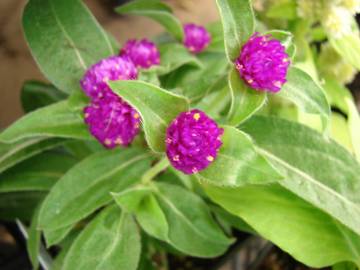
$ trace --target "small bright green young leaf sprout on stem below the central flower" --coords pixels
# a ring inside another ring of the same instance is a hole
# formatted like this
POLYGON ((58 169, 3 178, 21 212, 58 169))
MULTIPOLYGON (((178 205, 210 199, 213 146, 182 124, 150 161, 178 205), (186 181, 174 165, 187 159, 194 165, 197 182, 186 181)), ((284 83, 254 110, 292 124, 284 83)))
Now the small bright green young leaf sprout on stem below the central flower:
POLYGON ((122 209, 135 214, 145 232, 160 240, 168 241, 168 223, 152 194, 153 191, 154 189, 148 186, 137 186, 113 194, 113 197, 122 209))

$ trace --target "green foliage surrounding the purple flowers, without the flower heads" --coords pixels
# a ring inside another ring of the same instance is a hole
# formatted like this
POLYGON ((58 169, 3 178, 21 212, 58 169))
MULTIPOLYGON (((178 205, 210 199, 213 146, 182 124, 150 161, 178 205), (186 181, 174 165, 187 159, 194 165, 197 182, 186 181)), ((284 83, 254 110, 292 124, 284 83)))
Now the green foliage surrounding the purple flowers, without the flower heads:
MULTIPOLYGON (((157 39, 160 66, 136 81, 109 82, 138 110, 144 131, 131 147, 110 151, 83 122, 88 100, 79 80, 119 45, 80 0, 28 2, 25 36, 52 85, 25 83, 28 114, 0 134, 0 217, 31 220, 34 268, 41 235, 61 249, 51 269, 131 270, 156 268, 157 253, 219 256, 233 242, 230 228, 313 267, 360 266, 360 121, 349 91, 318 75, 315 30, 303 19, 272 10, 256 21, 248 0, 217 5, 221 22, 208 26, 212 43, 196 56, 160 1, 117 9, 150 17, 168 34, 157 39), (271 33, 292 57, 277 95, 250 89, 234 69, 255 30, 271 33), (189 108, 225 130, 218 158, 192 176, 164 158, 165 129, 189 108)), ((353 48, 332 44, 344 54, 353 48)))

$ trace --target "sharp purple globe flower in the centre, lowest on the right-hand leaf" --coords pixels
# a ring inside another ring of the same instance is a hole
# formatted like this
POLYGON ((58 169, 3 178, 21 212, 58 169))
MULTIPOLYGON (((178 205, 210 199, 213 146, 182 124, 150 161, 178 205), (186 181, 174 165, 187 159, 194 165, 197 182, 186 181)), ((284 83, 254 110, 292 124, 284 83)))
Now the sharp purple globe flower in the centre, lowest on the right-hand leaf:
POLYGON ((197 173, 216 159, 224 130, 199 110, 180 113, 166 131, 166 154, 185 174, 197 173))

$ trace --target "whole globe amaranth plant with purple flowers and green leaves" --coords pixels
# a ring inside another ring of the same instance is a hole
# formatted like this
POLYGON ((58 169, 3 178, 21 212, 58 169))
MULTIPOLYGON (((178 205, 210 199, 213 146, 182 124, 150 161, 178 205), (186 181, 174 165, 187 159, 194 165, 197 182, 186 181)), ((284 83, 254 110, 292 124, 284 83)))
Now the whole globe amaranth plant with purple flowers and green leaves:
POLYGON ((170 269, 226 254, 237 230, 311 267, 360 267, 345 86, 359 1, 216 5, 220 20, 199 25, 130 1, 116 11, 165 32, 119 45, 80 0, 28 1, 24 34, 51 85, 25 82, 36 109, 0 133, 0 217, 29 224, 34 269, 170 269))

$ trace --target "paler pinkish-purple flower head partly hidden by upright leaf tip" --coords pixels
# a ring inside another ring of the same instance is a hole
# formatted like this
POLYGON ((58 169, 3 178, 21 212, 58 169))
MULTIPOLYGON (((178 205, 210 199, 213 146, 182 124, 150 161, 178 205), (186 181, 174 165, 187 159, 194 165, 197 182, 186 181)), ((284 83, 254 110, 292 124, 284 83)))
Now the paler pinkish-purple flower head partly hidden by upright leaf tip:
POLYGON ((108 80, 133 80, 137 75, 137 69, 128 57, 112 56, 91 66, 80 84, 86 95, 101 98, 106 92, 111 92, 106 83, 108 80))

